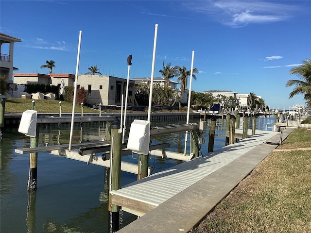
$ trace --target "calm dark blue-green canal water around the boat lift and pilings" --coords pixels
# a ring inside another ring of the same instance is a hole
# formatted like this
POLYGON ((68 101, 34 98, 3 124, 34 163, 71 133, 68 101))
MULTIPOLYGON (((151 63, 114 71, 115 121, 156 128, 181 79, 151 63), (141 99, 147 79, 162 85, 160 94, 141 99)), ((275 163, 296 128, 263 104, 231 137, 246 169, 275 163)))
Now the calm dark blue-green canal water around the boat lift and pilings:
MULTIPOLYGON (((241 118, 242 120, 242 118, 241 118)), ((256 128, 265 129, 265 123, 274 123, 273 117, 257 118, 256 128)), ((152 123, 154 126, 185 124, 185 122, 152 123)), ((102 140, 103 124, 77 124, 73 142, 102 140), (82 130, 81 130, 82 128, 82 130)), ((129 126, 127 129, 129 131, 129 126)), ((207 127, 208 128, 208 127, 207 127)), ((69 143, 69 124, 44 125, 40 128, 39 146, 69 143)), ((128 133, 128 132, 127 132, 128 133)), ((207 154, 208 130, 203 133, 207 143, 201 154, 207 154)), ((169 142, 170 149, 183 152, 184 133, 159 135, 151 138, 153 144, 169 142)), ((188 144, 190 139, 188 140, 188 144)), ((1 233, 106 233, 108 232, 108 193, 104 184, 104 167, 51 155, 38 154, 37 191, 28 192, 29 154, 14 152, 17 148, 28 148, 30 138, 5 129, 0 145, 0 232, 1 233)), ((214 150, 225 146, 225 120, 218 119, 214 150)), ((188 145, 189 153, 190 145, 188 145)), ((122 160, 138 164, 137 156, 122 160), (133 158, 134 157, 134 158, 133 158)), ((174 166, 181 161, 151 156, 149 165, 154 172, 174 166)), ((121 186, 133 182, 137 175, 121 173, 121 186)), ((136 216, 121 213, 120 227, 124 227, 136 216)))

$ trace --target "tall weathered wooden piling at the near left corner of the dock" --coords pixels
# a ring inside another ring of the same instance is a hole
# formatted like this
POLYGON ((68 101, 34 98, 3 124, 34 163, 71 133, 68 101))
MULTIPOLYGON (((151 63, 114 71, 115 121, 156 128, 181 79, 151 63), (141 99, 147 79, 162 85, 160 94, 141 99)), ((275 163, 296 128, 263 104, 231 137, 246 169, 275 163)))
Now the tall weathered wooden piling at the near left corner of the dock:
POLYGON ((114 233, 119 230, 120 206, 112 204, 111 190, 120 189, 121 181, 121 153, 122 153, 122 133, 119 133, 120 121, 115 120, 111 124, 111 163, 110 163, 110 183, 109 183, 109 232, 114 233))

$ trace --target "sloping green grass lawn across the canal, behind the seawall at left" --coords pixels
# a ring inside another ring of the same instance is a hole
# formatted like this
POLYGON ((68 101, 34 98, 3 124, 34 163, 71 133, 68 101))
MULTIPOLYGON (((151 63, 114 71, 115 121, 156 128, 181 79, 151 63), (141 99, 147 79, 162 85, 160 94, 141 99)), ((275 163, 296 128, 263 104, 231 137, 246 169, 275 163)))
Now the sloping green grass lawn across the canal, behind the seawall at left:
MULTIPOLYGON (((23 113, 32 109, 32 99, 5 99, 5 113, 23 113)), ((59 113, 59 100, 35 100, 35 110, 38 113, 59 113)), ((99 110, 84 107, 84 113, 97 113, 99 110)), ((62 101, 62 113, 72 113, 72 103, 62 101)), ((81 113, 81 105, 75 106, 75 113, 81 113)))

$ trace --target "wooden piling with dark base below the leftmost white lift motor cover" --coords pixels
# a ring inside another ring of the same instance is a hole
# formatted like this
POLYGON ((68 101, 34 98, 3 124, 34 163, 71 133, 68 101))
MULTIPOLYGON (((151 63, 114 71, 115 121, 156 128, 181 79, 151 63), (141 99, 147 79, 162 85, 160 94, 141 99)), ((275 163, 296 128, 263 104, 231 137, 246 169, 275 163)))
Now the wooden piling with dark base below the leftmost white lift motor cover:
MULTIPOLYGON (((32 101, 32 109, 35 110, 35 100, 32 101)), ((30 147, 38 147, 39 145, 39 127, 37 125, 35 137, 30 138, 30 147)), ((30 153, 29 177, 28 177, 28 190, 37 189, 37 165, 38 153, 30 153)))

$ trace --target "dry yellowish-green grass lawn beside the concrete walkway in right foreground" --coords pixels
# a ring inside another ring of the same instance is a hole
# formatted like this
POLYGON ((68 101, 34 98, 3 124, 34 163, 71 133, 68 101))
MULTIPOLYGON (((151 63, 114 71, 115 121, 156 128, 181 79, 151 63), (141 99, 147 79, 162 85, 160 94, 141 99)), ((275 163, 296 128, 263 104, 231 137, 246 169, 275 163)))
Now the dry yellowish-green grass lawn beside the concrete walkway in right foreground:
MULTIPOLYGON (((302 147, 311 133, 295 129, 277 149, 302 147)), ((271 152, 190 232, 310 233, 311 150, 271 152)))

